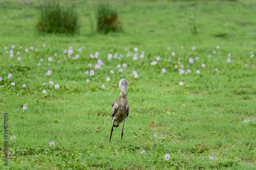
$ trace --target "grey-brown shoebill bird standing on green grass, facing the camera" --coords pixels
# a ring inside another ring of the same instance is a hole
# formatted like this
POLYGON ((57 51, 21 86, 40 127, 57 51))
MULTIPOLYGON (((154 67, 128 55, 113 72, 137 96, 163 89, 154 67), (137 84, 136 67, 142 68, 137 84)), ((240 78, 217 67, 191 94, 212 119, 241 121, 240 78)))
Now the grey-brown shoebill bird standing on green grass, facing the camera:
MULTIPOLYGON (((111 128, 110 141, 111 141, 113 128, 114 127, 117 128, 121 123, 123 123, 123 128, 124 128, 125 119, 129 115, 130 108, 127 102, 127 94, 128 94, 127 84, 128 84, 128 81, 126 79, 121 79, 119 81, 119 87, 121 92, 118 99, 112 104, 111 116, 112 116, 113 126, 111 128)), ((123 139, 123 129, 121 133, 121 140, 122 139, 123 139)))

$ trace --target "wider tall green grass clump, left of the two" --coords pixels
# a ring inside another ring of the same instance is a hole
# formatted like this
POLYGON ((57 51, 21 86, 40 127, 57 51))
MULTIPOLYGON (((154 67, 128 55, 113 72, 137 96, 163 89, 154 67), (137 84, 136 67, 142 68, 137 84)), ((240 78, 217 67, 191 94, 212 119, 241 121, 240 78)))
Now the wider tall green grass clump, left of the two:
POLYGON ((48 3, 40 8, 37 31, 45 33, 74 34, 78 32, 75 6, 60 6, 59 3, 48 3))

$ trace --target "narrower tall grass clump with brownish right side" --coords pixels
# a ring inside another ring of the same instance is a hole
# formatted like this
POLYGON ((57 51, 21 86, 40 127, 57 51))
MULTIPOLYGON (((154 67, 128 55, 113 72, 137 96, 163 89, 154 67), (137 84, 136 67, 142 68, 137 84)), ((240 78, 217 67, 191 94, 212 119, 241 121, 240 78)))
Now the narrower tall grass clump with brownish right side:
POLYGON ((121 22, 117 11, 109 4, 99 4, 97 9, 97 31, 103 33, 120 32, 121 22))

